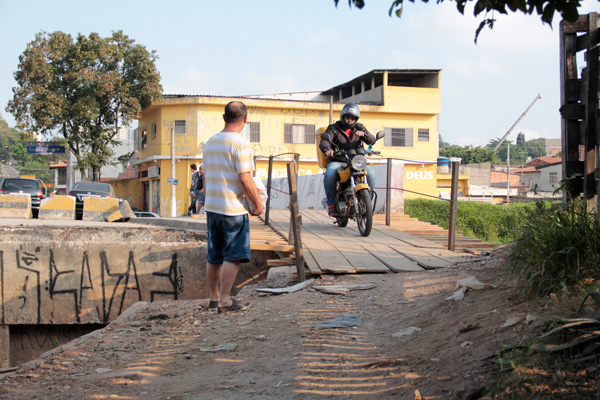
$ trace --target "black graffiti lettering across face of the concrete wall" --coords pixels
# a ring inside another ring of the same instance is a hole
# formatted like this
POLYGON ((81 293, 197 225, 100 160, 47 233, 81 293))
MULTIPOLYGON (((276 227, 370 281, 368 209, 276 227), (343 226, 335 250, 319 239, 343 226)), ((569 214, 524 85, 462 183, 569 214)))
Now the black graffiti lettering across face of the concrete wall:
POLYGON ((108 323, 135 302, 179 299, 195 273, 182 268, 176 249, 149 257, 157 252, 147 246, 137 256, 100 246, 58 247, 3 245, 0 324, 108 323))

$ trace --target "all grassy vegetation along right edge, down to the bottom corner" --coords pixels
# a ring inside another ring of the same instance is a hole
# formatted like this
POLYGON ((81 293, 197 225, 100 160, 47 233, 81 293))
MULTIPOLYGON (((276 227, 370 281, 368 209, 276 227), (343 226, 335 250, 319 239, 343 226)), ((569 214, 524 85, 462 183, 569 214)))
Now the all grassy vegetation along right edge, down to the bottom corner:
POLYGON ((585 202, 537 203, 509 255, 526 294, 556 315, 534 343, 499 352, 491 399, 597 399, 600 217, 585 202), (560 315, 566 317, 559 317, 560 315))

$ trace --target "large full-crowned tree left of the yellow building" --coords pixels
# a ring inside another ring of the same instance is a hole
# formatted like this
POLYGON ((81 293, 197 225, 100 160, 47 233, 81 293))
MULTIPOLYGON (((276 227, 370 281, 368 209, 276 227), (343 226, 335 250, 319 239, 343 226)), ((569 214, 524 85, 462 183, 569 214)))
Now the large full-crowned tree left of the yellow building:
POLYGON ((45 136, 58 131, 77 159, 75 168, 100 178, 112 163, 115 136, 161 95, 155 52, 122 31, 75 40, 66 33, 40 32, 19 57, 18 86, 6 110, 17 127, 45 136))

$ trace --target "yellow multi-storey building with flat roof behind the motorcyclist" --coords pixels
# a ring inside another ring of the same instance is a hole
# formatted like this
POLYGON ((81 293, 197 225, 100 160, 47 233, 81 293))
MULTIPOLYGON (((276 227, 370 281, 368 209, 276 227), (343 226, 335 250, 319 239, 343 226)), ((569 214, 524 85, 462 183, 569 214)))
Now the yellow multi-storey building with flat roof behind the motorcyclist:
MULTIPOLYGON (((405 198, 437 196, 436 159, 441 107, 439 70, 373 70, 323 92, 243 97, 163 95, 142 111, 138 128, 137 180, 123 185, 133 207, 162 216, 185 215, 189 205, 190 165, 202 162, 204 142, 223 128, 223 109, 231 100, 248 107, 244 134, 254 148, 257 175, 285 176, 290 153, 300 154, 300 175, 322 172, 315 132, 339 119, 345 103, 357 103, 360 122, 375 134, 381 157, 405 160, 405 198), (172 140, 174 138, 174 140, 172 140), (173 153, 173 154, 172 154, 173 153), (172 169, 174 165, 174 169, 172 169), (169 182, 177 182, 172 192, 169 182), (173 195, 174 194, 174 195, 173 195), (173 199, 175 201, 173 202, 173 199), (172 205, 175 207, 172 208, 172 205)), ((378 185, 379 186, 379 185, 378 185)), ((119 189, 117 188, 117 191, 119 189)))

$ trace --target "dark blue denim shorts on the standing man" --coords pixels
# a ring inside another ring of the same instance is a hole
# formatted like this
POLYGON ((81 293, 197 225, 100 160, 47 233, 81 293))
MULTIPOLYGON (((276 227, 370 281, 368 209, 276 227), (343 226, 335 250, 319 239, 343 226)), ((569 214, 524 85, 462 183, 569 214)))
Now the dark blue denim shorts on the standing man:
POLYGON ((248 214, 223 215, 206 213, 208 252, 206 261, 221 265, 223 261, 250 261, 250 221, 248 214))

